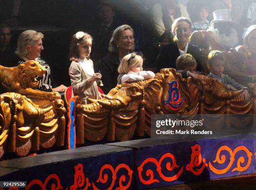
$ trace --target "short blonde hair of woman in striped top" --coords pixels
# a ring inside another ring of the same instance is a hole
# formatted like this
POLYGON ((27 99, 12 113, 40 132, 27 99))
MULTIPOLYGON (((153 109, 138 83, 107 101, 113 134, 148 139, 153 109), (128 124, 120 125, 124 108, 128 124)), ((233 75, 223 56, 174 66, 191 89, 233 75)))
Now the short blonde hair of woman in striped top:
POLYGON ((34 45, 36 41, 44 38, 44 34, 35 30, 26 30, 18 38, 17 50, 15 53, 20 57, 28 54, 27 46, 34 45))

